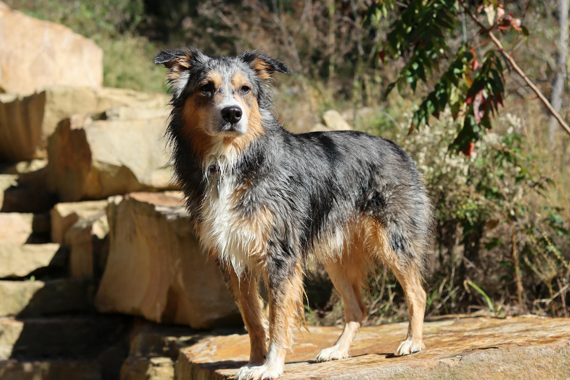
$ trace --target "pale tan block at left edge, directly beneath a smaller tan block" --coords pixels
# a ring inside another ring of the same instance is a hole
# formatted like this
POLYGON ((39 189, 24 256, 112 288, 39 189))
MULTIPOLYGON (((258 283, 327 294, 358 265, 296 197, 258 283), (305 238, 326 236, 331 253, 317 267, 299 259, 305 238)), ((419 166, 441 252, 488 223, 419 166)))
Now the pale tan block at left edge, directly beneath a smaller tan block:
POLYGON ((25 277, 38 269, 63 267, 67 252, 59 244, 0 244, 0 278, 25 277))

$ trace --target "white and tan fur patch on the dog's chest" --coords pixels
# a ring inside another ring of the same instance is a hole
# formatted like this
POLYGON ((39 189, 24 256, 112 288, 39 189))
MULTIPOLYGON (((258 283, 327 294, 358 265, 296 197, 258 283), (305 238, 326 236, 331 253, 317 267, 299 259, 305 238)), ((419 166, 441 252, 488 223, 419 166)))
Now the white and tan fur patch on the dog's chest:
POLYGON ((235 209, 235 187, 232 175, 221 179, 219 185, 216 178, 210 178, 201 206, 200 239, 206 247, 214 248, 220 261, 231 264, 240 276, 247 268, 254 268, 250 247, 260 236, 235 209))

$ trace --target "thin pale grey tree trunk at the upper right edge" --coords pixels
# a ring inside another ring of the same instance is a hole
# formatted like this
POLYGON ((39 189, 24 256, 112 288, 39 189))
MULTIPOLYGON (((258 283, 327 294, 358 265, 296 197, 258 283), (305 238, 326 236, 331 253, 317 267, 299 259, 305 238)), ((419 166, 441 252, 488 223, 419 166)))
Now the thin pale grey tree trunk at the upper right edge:
MULTIPOLYGON (((568 3, 569 3, 568 0, 560 0, 558 8, 558 24, 560 27, 560 38, 558 40, 558 61, 557 61, 556 77, 554 79, 554 84, 552 86, 552 95, 550 97, 550 103, 552 103, 552 108, 554 108, 556 112, 560 111, 560 106, 562 105, 564 82, 566 81, 566 75, 567 75, 568 3)), ((551 116, 548 135, 550 138, 550 144, 552 146, 556 145, 557 124, 558 121, 553 116, 551 116)))

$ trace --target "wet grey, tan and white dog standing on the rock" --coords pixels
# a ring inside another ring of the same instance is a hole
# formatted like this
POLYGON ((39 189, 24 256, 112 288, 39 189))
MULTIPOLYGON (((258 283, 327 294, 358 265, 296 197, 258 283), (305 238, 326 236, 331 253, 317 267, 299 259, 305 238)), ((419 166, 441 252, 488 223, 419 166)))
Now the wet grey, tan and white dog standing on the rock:
POLYGON ((272 112, 269 85, 289 70, 261 52, 209 56, 186 47, 161 51, 154 63, 169 68, 168 135, 190 218, 249 332, 250 360, 236 378, 283 375, 291 326, 303 320, 309 260, 324 265, 345 315, 339 339, 316 361, 349 356, 366 315, 361 291, 377 265, 394 272, 408 303, 408 336, 396 355, 423 349, 432 207, 409 154, 352 130, 288 132, 272 112))

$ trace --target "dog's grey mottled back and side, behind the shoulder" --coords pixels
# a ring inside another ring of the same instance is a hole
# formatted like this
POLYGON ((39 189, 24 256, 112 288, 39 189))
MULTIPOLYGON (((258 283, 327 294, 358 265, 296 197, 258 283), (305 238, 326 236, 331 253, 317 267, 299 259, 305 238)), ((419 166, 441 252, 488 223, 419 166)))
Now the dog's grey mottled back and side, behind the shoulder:
POLYGON ((283 218, 302 221, 295 228, 302 254, 335 240, 339 229, 347 232, 366 221, 380 224, 382 239, 395 255, 422 267, 432 213, 408 153, 363 132, 279 134, 273 175, 263 180, 274 186, 267 202, 273 200, 283 218), (291 186, 295 191, 275 197, 291 186))

